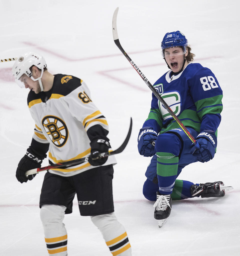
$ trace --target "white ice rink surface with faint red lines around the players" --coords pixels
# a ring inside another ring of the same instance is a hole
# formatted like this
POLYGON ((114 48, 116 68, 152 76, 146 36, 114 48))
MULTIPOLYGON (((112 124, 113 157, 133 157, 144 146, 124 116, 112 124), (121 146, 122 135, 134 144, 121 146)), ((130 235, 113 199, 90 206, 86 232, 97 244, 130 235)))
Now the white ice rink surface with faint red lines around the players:
MULTIPOLYGON (((130 116, 133 131, 117 155, 113 179, 115 212, 129 235, 133 255, 239 255, 239 14, 234 1, 0 1, 0 57, 26 51, 42 54, 52 73, 84 80, 91 98, 106 116, 113 148, 125 138, 130 116), (158 228, 154 202, 142 195, 149 158, 137 151, 137 134, 147 118, 151 91, 112 38, 112 15, 124 50, 154 83, 167 71, 160 43, 166 32, 182 31, 223 89, 218 150, 208 163, 194 163, 179 178, 194 183, 222 180, 234 189, 223 198, 194 198, 172 203, 166 225, 158 228)), ((12 62, 0 63, 0 255, 47 255, 39 217, 44 177, 20 184, 17 164, 31 143, 34 122, 26 99, 11 75, 12 62)), ((47 165, 47 160, 44 161, 47 165)), ((97 192, 97 191, 96 191, 97 192)), ((89 217, 81 217, 77 200, 65 216, 68 254, 111 255, 89 217)))

